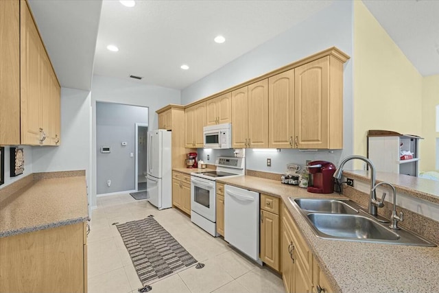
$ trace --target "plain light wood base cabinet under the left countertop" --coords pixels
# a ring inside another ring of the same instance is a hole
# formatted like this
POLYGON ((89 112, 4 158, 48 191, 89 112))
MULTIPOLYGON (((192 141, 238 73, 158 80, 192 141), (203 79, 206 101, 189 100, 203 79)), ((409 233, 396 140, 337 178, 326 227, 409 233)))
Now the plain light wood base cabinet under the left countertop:
POLYGON ((0 292, 86 292, 84 226, 0 238, 0 292))

